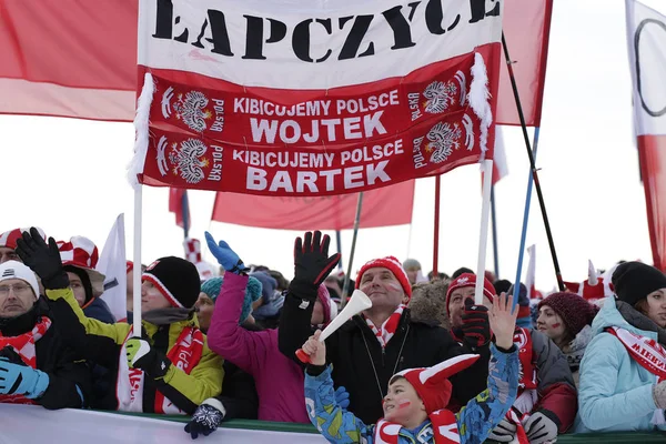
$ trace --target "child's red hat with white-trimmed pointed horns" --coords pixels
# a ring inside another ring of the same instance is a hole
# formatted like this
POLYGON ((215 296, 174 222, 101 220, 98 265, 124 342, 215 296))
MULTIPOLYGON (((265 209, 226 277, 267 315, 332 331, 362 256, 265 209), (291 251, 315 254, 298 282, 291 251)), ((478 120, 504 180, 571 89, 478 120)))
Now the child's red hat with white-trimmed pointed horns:
POLYGON ((445 408, 451 400, 453 386, 448 377, 463 371, 478 360, 477 354, 461 354, 426 369, 407 369, 393 375, 389 385, 398 376, 407 380, 423 401, 425 412, 445 408))

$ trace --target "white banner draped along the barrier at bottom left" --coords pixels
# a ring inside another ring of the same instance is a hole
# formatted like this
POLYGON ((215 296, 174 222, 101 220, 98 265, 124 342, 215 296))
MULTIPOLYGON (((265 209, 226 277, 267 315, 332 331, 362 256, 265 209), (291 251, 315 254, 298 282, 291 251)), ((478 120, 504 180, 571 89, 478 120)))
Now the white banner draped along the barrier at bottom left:
MULTIPOLYGON (((325 443, 319 434, 224 428, 203 443, 325 443)), ((48 411, 39 405, 0 404, 0 443, 192 444, 184 424, 84 410, 48 411)))

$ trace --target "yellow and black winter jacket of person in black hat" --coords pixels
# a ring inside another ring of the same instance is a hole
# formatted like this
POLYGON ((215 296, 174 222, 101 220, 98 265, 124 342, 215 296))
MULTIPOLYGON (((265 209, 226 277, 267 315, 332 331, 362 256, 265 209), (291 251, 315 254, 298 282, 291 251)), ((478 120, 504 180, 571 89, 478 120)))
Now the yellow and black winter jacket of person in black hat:
MULTIPOLYGON (((125 356, 120 356, 120 352, 130 333, 131 325, 124 322, 104 324, 85 317, 74 300, 71 289, 47 290, 47 296, 52 301, 57 316, 62 319, 59 329, 68 342, 88 360, 118 373, 119 360, 125 359, 125 356)), ((142 326, 151 345, 168 354, 184 327, 199 326, 199 324, 196 316, 191 316, 184 321, 160 326, 142 322, 142 326)), ((201 360, 190 374, 171 365, 163 379, 153 380, 147 375, 143 389, 143 412, 154 412, 154 394, 155 391, 159 391, 176 407, 192 414, 204 400, 220 394, 223 375, 222 359, 211 352, 205 344, 204 336, 201 360)), ((115 391, 110 391, 99 404, 101 408, 105 410, 118 408, 115 391)))

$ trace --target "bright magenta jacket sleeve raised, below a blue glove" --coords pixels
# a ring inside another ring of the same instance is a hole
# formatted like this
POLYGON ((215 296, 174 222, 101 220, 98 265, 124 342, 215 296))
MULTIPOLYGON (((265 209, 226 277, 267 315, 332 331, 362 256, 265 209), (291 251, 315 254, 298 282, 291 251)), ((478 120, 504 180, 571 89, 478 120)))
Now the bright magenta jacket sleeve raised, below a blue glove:
POLYGON ((208 337, 215 353, 254 374, 264 362, 270 343, 265 341, 265 332, 249 332, 239 325, 248 280, 248 276, 224 273, 208 337))

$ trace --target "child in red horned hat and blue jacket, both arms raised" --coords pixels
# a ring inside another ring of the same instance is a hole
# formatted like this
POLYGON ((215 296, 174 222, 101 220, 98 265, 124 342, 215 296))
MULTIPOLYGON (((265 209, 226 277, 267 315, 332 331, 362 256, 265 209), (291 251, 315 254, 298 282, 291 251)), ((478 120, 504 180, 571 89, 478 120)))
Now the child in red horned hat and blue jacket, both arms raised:
POLYGON ((487 389, 460 413, 446 410, 452 385, 448 377, 480 356, 463 354, 426 369, 407 369, 389 382, 384 417, 366 425, 335 402, 326 347, 316 332, 303 345, 311 365, 305 373, 305 405, 310 421, 331 443, 483 443, 506 415, 518 390, 518 356, 513 344, 516 314, 513 296, 494 296, 490 322, 495 333, 491 345, 487 389))

